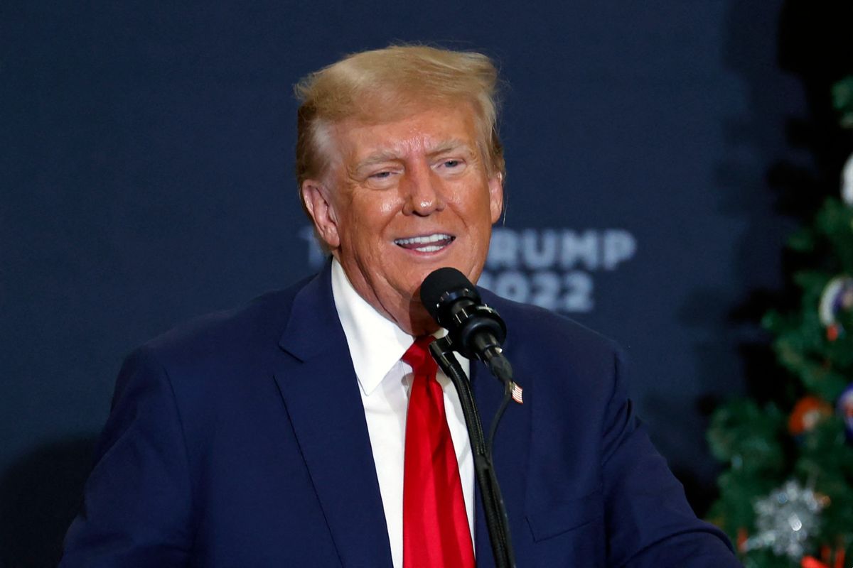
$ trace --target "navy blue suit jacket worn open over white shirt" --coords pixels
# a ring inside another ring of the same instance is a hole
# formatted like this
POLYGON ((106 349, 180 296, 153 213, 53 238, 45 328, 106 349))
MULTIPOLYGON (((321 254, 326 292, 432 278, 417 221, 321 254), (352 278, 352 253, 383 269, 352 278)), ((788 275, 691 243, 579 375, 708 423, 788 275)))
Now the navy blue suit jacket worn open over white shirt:
MULTIPOLYGON (((638 424, 612 342, 484 298, 525 389, 495 444, 519 567, 740 565, 638 424)), ((488 422, 502 388, 479 363, 471 380, 488 422)), ((328 266, 150 341, 119 374, 61 566, 391 568, 357 389, 328 266)))

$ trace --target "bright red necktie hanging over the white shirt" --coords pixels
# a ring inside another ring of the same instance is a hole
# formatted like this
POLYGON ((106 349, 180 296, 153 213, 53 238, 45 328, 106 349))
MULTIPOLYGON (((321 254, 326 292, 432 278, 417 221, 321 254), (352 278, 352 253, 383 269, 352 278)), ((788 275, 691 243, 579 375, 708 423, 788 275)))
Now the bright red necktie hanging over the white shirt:
POLYGON ((444 393, 419 337, 403 355, 415 374, 406 415, 403 473, 403 568, 473 568, 474 551, 444 393))

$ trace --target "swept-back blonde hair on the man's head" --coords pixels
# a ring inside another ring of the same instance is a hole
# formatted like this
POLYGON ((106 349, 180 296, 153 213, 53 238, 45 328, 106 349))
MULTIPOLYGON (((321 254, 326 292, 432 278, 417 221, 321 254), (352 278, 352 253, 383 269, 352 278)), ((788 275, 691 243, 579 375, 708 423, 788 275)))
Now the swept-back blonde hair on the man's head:
MULTIPOLYGON (((328 129, 356 119, 381 123, 415 109, 469 103, 489 175, 505 177, 497 134, 497 69, 482 54, 423 45, 392 45, 348 55, 294 87, 297 114, 296 181, 319 179, 332 151, 328 129)), ((302 193, 299 192, 300 199, 302 193)), ((303 202, 303 208, 305 203, 303 202)))

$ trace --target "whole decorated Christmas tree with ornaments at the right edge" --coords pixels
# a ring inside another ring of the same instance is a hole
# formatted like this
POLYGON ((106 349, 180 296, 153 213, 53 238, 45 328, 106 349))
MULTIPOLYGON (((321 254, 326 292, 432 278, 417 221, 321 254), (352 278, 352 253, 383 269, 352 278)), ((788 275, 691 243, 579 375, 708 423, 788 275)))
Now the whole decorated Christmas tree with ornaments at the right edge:
MULTIPOLYGON (((853 76, 831 99, 850 152, 853 76)), ((853 154, 838 175, 840 198, 789 241, 798 307, 763 318, 786 370, 774 399, 729 402, 708 430, 726 464, 709 516, 747 568, 853 564, 853 154)))

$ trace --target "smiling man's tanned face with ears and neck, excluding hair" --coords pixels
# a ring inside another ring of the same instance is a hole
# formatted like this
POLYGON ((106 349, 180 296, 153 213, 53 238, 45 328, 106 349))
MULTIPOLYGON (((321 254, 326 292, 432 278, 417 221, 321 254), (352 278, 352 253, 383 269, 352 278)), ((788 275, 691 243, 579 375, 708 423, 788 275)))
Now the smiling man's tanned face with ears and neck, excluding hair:
POLYGON ((305 202, 347 277, 401 329, 434 329, 417 291, 427 274, 455 267, 479 278, 491 225, 502 210, 500 176, 486 174, 467 105, 400 120, 345 121, 333 129, 337 160, 324 181, 305 181, 305 202))

